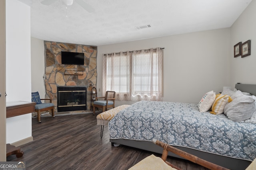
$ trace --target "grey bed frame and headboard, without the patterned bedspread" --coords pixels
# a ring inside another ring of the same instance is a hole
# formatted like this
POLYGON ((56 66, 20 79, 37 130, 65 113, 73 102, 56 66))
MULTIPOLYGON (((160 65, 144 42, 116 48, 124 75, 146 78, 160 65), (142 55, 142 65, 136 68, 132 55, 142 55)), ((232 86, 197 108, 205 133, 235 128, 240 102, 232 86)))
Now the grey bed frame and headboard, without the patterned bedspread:
MULTIPOLYGON (((248 92, 248 93, 256 96, 256 84, 237 83, 235 85, 235 88, 242 92, 248 92)), ((148 150, 150 152, 156 152, 156 153, 160 153, 160 154, 163 151, 162 147, 155 145, 154 143, 152 143, 152 141, 135 141, 135 140, 129 140, 129 139, 110 139, 110 142, 111 142, 112 146, 114 146, 114 143, 118 143, 121 145, 126 145, 129 147, 134 147, 134 148, 143 149, 143 150, 148 150)), ((212 162, 214 164, 231 169, 231 170, 246 169, 252 162, 249 160, 243 160, 243 159, 239 159, 239 158, 231 158, 228 156, 212 154, 209 152, 204 152, 204 151, 191 149, 191 148, 187 148, 187 147, 177 147, 177 146, 174 146, 174 147, 176 147, 177 149, 183 150, 185 152, 188 152, 190 154, 193 154, 195 156, 198 156, 199 158, 202 158, 202 159, 212 162)), ((172 152, 169 152, 168 155, 174 156, 176 158, 182 158, 176 154, 173 154, 172 152)))

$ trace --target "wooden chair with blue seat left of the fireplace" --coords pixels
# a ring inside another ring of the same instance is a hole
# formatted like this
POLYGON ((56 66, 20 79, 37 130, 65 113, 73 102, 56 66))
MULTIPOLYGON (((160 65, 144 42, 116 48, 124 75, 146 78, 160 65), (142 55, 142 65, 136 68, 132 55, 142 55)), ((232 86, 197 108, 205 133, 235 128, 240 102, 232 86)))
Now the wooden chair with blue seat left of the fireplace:
POLYGON ((40 100, 49 100, 50 103, 41 103, 35 105, 35 111, 37 112, 37 120, 41 123, 41 111, 51 110, 52 117, 54 118, 54 104, 52 103, 51 99, 40 99, 40 100))

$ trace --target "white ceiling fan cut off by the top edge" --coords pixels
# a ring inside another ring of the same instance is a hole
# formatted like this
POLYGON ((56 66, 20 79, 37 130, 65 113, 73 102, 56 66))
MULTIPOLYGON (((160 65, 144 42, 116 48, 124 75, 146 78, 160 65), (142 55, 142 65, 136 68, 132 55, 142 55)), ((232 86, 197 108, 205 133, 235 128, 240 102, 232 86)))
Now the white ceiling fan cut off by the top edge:
MULTIPOLYGON (((41 4, 44 5, 50 5, 53 4, 55 1, 57 0, 43 0, 41 2, 41 4)), ((86 11, 88 11, 89 13, 94 12, 94 8, 92 8, 92 6, 90 6, 89 4, 87 4, 86 2, 84 2, 83 0, 61 0, 66 6, 71 6, 73 5, 74 2, 76 2, 77 4, 79 4, 80 6, 82 6, 82 8, 84 8, 86 11)))

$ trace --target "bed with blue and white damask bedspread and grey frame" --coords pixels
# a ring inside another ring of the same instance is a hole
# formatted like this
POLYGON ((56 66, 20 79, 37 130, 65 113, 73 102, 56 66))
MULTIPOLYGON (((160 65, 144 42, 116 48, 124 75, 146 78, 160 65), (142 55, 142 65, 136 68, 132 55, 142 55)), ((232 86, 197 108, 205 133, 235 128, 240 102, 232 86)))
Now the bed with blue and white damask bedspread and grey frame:
MULTIPOLYGON (((236 84, 235 88, 256 95, 256 85, 236 84)), ((162 153, 151 142, 156 138, 232 170, 245 169, 256 158, 255 123, 199 112, 198 104, 140 101, 118 112, 108 128, 112 144, 162 153)))

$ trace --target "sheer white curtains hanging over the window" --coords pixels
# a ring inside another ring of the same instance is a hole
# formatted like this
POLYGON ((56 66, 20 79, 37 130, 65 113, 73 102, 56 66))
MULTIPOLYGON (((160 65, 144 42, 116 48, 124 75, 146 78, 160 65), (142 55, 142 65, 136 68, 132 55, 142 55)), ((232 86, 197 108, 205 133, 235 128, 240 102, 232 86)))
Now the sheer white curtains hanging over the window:
POLYGON ((102 92, 116 92, 116 100, 162 101, 163 48, 105 54, 102 92))

